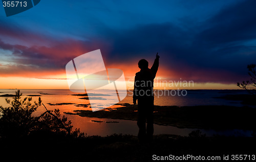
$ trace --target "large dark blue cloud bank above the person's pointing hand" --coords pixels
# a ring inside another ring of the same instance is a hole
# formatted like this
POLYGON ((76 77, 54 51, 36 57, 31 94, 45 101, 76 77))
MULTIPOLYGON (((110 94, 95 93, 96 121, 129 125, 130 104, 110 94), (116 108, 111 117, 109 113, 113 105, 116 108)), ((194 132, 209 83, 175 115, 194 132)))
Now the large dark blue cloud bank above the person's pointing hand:
MULTIPOLYGON (((127 30, 107 29, 101 35, 113 46, 109 62, 151 59, 159 52, 161 63, 177 73, 191 76, 190 70, 203 71, 201 75, 209 78, 222 73, 221 82, 236 82, 233 79, 243 79, 246 65, 256 60, 256 44, 248 44, 256 40, 255 6, 256 1, 233 4, 187 28, 166 22, 127 30)), ((186 17, 183 21, 185 24, 193 19, 186 17)))

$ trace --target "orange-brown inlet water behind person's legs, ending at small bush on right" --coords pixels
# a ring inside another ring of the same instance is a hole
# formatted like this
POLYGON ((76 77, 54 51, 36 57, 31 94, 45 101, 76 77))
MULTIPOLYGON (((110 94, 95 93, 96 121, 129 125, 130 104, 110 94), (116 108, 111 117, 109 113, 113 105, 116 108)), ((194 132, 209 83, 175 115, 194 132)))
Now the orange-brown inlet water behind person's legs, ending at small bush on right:
MULTIPOLYGON (((99 118, 89 118, 89 117, 79 117, 78 115, 66 115, 69 120, 72 121, 74 128, 80 128, 80 131, 87 133, 87 135, 111 135, 114 133, 131 134, 137 135, 139 129, 137 127, 136 121, 129 120, 118 120, 118 119, 99 119, 99 118), (101 123, 92 122, 103 121, 101 123), (118 123, 106 123, 110 121, 115 121, 118 123)), ((157 134, 177 134, 177 135, 188 135, 194 129, 188 128, 177 128, 172 126, 160 126, 154 125, 155 135, 157 134)))

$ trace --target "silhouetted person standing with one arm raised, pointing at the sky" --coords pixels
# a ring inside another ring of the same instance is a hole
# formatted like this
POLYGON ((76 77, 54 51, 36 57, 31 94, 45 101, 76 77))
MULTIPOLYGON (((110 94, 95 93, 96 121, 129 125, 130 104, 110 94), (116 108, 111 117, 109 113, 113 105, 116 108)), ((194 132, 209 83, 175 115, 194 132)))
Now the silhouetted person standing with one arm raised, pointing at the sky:
POLYGON ((159 65, 159 56, 151 68, 148 68, 148 62, 142 59, 138 63, 140 72, 136 73, 133 91, 133 103, 137 104, 138 100, 138 121, 139 127, 138 138, 140 142, 149 142, 152 140, 154 127, 153 127, 153 111, 154 111, 154 79, 157 74, 159 65), (147 125, 146 125, 147 122, 147 125))

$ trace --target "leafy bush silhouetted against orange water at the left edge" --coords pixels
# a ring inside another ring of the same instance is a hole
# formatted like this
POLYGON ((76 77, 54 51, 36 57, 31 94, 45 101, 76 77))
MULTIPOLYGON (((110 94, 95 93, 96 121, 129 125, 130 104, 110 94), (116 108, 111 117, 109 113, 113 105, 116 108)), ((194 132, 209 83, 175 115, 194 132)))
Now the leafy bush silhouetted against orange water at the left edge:
MULTIPOLYGON (((22 93, 16 91, 13 100, 6 99, 10 107, 0 106, 0 136, 1 137, 21 137, 29 135, 35 131, 56 132, 65 135, 83 136, 79 129, 71 132, 71 121, 63 115, 60 117, 59 109, 47 110, 39 117, 32 113, 42 104, 41 98, 32 103, 32 98, 21 99, 22 93)), ((45 105, 44 105, 45 106, 45 105)))

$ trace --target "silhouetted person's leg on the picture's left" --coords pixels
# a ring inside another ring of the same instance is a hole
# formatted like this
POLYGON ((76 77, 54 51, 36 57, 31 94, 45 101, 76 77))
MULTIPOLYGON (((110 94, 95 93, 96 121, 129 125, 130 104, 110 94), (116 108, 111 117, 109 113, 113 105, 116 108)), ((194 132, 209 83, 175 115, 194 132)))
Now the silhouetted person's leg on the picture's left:
POLYGON ((137 125, 139 127, 138 138, 140 142, 146 140, 146 113, 144 104, 138 101, 138 121, 137 125))

